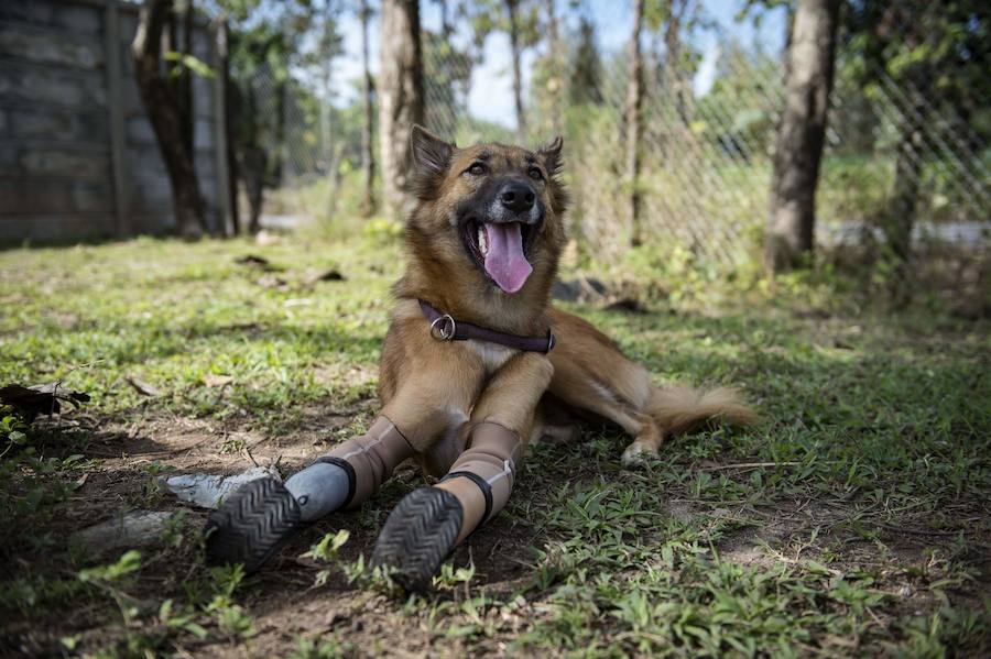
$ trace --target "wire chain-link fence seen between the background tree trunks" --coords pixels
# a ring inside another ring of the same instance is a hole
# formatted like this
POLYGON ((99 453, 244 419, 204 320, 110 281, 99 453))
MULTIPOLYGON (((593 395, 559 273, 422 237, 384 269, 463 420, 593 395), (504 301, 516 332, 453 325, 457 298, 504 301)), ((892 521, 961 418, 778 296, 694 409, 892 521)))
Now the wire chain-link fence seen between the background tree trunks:
MULTIPOLYGON (((706 22, 699 24, 695 30, 705 30, 706 22)), ((783 105, 781 53, 745 47, 723 31, 718 55, 697 53, 675 65, 667 61, 671 43, 645 37, 642 164, 631 183, 627 44, 605 47, 593 32, 589 39, 590 30, 584 19, 562 19, 560 42, 538 42, 523 58, 526 141, 535 145, 555 132, 565 136, 573 234, 603 259, 624 253, 632 235, 628 198, 635 186, 651 244, 722 265, 752 260, 769 208, 783 105), (714 61, 705 89, 697 84, 700 56, 714 61)), ((697 33, 680 37, 686 50, 698 42, 697 33)), ((449 26, 424 20, 431 130, 460 144, 518 138, 512 114, 494 121, 476 112, 487 94, 504 95, 511 88, 507 67, 493 73, 479 56, 490 52, 470 39, 451 36, 449 26)), ((377 56, 373 52, 372 58, 377 56)), ((991 150, 972 130, 972 119, 906 80, 879 70, 864 86, 862 76, 849 68, 837 67, 831 97, 817 191, 818 240, 876 238, 887 218, 911 211, 917 233, 963 246, 985 244, 991 150), (900 197, 906 177, 911 210, 900 197)), ((266 133, 270 156, 279 154, 270 176, 269 219, 326 220, 356 212, 351 200, 360 196, 361 185, 360 95, 342 102, 329 87, 293 76, 277 83, 266 69, 253 85, 273 122, 266 133), (280 121, 281 130, 274 123, 280 121)), ((502 98, 489 100, 512 107, 502 98)))

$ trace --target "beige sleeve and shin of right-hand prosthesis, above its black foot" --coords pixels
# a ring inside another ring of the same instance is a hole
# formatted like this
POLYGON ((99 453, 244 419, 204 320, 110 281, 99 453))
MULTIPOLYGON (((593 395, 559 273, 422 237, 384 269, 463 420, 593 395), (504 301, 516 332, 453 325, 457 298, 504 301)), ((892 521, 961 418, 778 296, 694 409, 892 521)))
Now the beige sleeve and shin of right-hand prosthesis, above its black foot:
POLYGON ((464 515, 456 543, 505 507, 521 452, 520 437, 512 430, 492 421, 475 427, 471 447, 435 485, 454 494, 461 504, 464 515))

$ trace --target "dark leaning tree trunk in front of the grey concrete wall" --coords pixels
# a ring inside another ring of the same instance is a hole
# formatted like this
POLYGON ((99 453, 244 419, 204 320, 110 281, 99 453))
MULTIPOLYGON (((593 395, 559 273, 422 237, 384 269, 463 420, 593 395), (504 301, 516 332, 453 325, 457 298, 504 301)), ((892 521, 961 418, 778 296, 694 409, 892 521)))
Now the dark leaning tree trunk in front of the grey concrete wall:
POLYGON ((162 31, 172 11, 172 0, 145 1, 131 44, 131 56, 141 100, 172 183, 176 226, 181 235, 194 239, 203 235, 206 207, 199 194, 193 152, 183 131, 179 100, 162 69, 162 31))

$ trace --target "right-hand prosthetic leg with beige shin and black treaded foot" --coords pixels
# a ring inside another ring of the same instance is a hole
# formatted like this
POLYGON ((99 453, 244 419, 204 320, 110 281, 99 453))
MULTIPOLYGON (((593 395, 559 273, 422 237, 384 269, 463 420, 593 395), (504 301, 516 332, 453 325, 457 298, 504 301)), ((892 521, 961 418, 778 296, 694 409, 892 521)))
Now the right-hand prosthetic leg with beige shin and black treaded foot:
POLYGON ((515 432, 492 421, 478 424, 447 475, 411 492, 392 510, 372 562, 392 568, 407 589, 427 586, 451 549, 505 506, 521 452, 515 432))

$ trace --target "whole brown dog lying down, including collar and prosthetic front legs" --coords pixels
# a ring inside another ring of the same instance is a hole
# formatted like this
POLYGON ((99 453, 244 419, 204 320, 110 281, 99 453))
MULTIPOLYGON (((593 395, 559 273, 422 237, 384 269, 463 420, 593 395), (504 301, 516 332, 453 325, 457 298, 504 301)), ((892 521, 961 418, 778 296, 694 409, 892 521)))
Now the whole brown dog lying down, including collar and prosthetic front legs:
POLYGON ((215 561, 259 567, 301 524, 360 504, 415 455, 447 475, 396 506, 373 560, 423 585, 505 505, 527 442, 577 436, 569 419, 622 428, 633 438, 628 466, 706 419, 755 419, 732 389, 655 387, 591 325, 552 308, 567 204, 560 149, 559 139, 537 151, 458 149, 414 129, 418 204, 382 350, 382 413, 284 486, 255 482, 226 502, 209 523, 215 561))

